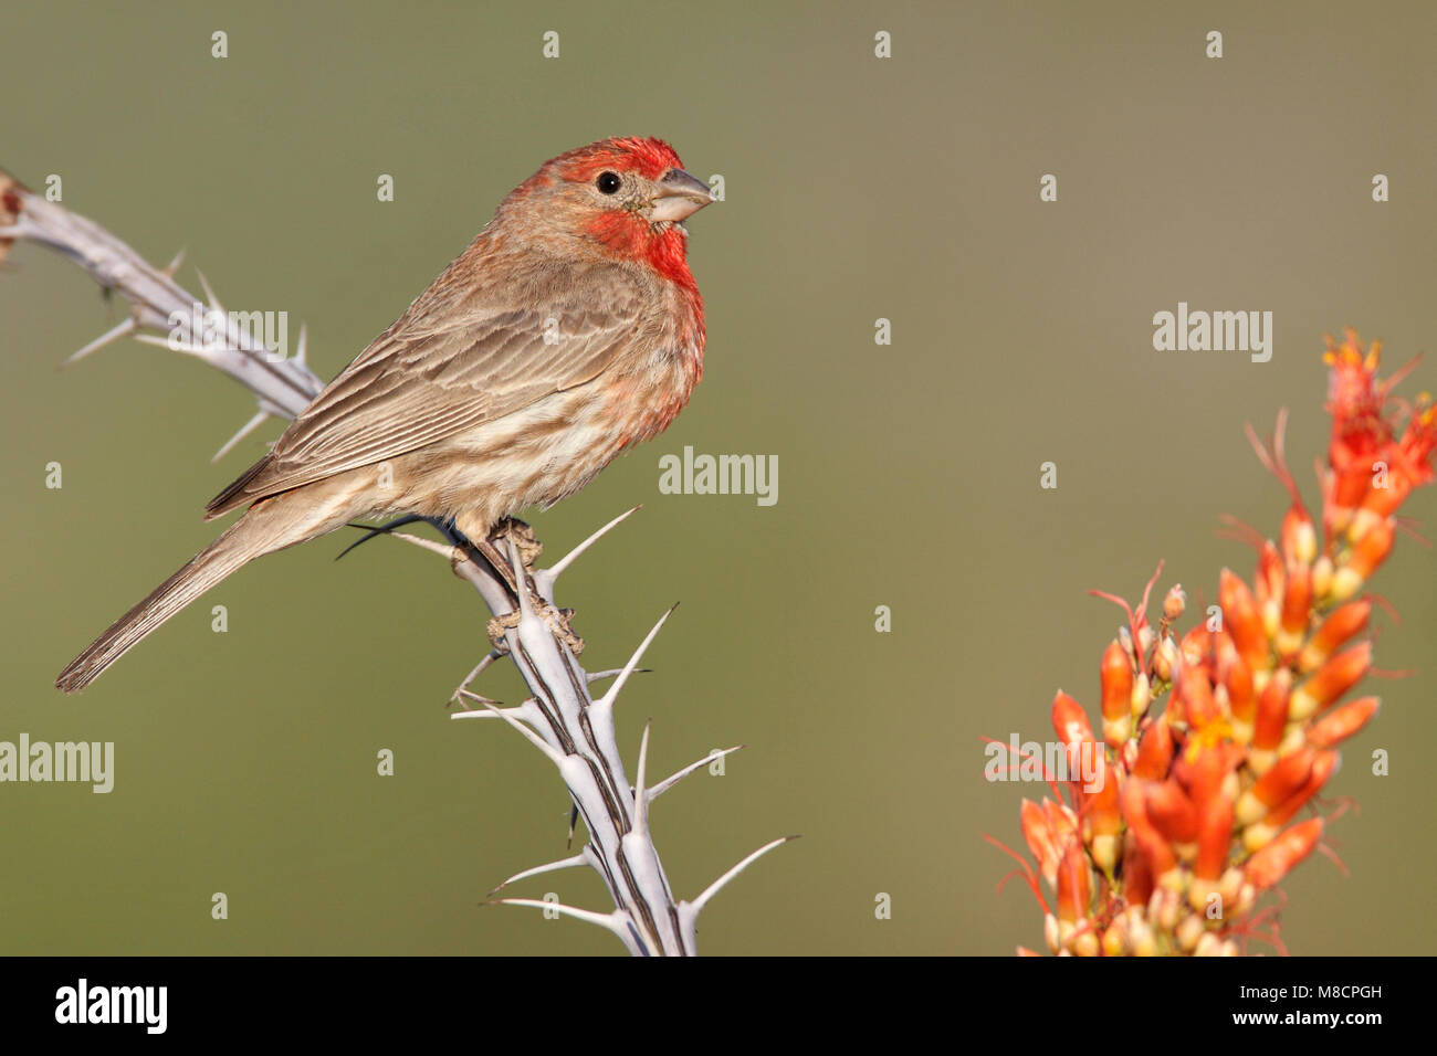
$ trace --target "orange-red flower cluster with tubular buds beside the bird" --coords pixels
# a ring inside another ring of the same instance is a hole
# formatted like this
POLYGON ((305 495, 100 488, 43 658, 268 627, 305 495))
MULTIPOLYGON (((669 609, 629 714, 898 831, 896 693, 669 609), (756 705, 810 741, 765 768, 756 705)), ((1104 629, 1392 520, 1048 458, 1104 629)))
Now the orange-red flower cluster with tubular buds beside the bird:
POLYGON ((1292 497, 1279 540, 1253 540, 1252 583, 1224 569, 1219 611, 1181 636, 1180 586, 1155 628, 1147 608, 1157 575, 1137 609, 1112 598, 1128 625, 1099 665, 1101 741, 1078 701, 1053 701, 1069 774, 1086 774, 1053 782, 1056 800, 1022 807, 1023 836, 1056 894, 1049 909, 1023 862, 1053 953, 1237 954, 1252 937, 1282 948, 1275 927, 1260 928, 1272 911, 1256 904, 1318 846, 1322 818, 1298 813, 1336 772, 1335 746, 1377 713, 1377 697, 1341 703, 1372 665, 1372 602, 1359 592, 1392 549, 1397 509, 1433 478, 1431 399, 1391 397, 1405 371, 1380 379, 1380 349, 1364 352, 1351 330, 1341 345, 1328 339, 1321 549, 1283 458, 1282 418, 1270 448, 1249 431, 1292 497))

